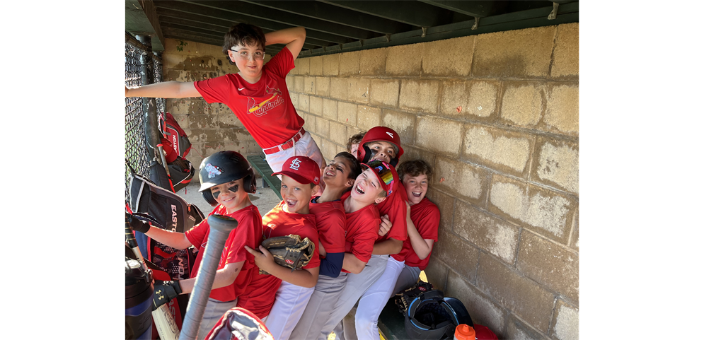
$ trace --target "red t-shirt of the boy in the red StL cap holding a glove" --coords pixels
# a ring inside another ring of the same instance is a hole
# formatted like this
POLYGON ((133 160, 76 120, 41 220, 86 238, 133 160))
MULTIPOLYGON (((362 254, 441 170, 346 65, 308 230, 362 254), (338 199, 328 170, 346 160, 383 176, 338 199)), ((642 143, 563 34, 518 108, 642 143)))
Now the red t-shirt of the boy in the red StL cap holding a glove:
MULTIPOLYGON (((301 240, 308 238, 314 245, 317 245, 316 216, 310 213, 287 213, 283 206, 284 201, 279 202, 274 209, 262 217, 262 231, 264 233, 262 240, 294 234, 299 235, 301 240)), ((253 249, 259 250, 259 245, 253 249)), ((316 247, 311 262, 308 262, 308 265, 303 268, 315 268, 320 264, 320 254, 318 254, 318 247, 316 247)), ((245 308, 261 319, 269 315, 271 307, 274 305, 276 291, 281 285, 281 279, 273 275, 259 274, 259 268, 256 266, 255 268, 256 273, 245 292, 237 300, 237 307, 245 308)))

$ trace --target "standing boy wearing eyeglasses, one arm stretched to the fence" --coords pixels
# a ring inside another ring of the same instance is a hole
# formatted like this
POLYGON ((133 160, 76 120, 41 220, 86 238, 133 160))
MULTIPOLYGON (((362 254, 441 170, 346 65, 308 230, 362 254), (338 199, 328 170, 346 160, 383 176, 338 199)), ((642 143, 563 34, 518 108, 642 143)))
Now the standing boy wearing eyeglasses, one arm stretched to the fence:
POLYGON ((208 103, 222 102, 262 148, 273 172, 281 171, 292 156, 307 156, 324 168, 320 148, 303 129, 304 119, 296 112, 286 86, 286 75, 294 69, 305 40, 303 27, 264 34, 257 26, 239 23, 225 35, 222 49, 238 73, 195 82, 125 86, 125 97, 202 97, 208 103), (272 44, 286 47, 265 64, 266 45, 272 44))

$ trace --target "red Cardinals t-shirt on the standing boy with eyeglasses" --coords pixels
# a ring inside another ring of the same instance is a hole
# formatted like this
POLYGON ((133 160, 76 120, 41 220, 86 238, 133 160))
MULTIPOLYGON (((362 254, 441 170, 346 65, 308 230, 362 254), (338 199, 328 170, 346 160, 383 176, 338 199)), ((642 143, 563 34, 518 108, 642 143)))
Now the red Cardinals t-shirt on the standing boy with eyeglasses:
POLYGON ((262 67, 257 83, 226 74, 196 81, 195 88, 206 102, 227 105, 260 147, 271 148, 291 139, 304 124, 286 86, 286 75, 292 69, 293 54, 284 47, 262 67))

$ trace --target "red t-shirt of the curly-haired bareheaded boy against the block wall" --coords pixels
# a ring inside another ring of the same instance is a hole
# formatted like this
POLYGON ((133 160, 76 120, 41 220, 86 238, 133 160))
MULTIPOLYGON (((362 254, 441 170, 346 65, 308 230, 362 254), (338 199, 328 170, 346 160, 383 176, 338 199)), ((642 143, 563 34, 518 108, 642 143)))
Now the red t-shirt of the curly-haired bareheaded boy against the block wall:
MULTIPOLYGON (((437 242, 437 227, 440 224, 440 209, 427 197, 410 206, 410 220, 423 239, 437 242)), ((432 254, 432 250, 430 252, 432 254)), ((417 266, 425 270, 430 261, 430 254, 425 259, 419 259, 410 244, 410 239, 403 241, 403 249, 398 254, 391 255, 396 261, 404 261, 408 266, 417 266)))

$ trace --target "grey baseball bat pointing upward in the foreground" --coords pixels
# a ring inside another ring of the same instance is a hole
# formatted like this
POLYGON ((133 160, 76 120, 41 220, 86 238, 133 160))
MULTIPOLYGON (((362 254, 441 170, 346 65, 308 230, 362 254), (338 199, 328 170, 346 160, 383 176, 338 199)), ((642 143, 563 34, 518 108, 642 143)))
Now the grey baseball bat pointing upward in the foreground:
POLYGON ((195 283, 186 307, 185 320, 183 320, 179 340, 196 339, 205 312, 205 305, 208 303, 208 296, 215 281, 215 272, 217 271, 218 262, 220 262, 220 254, 228 235, 234 228, 237 228, 236 219, 216 214, 208 216, 208 224, 210 225, 210 235, 205 246, 200 269, 198 269, 198 273, 195 276, 195 283))

